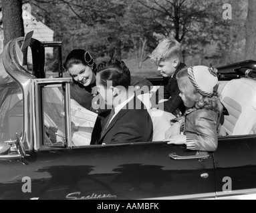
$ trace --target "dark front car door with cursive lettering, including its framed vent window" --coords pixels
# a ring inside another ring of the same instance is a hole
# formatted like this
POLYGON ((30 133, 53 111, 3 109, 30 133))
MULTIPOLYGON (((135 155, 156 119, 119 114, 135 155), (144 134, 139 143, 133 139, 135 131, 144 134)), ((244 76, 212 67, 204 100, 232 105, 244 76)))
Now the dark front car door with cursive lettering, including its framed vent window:
POLYGON ((215 197, 212 154, 166 142, 74 146, 68 82, 31 81, 35 104, 26 117, 33 123, 33 146, 23 152, 17 136, 9 156, 0 154, 1 199, 215 197))

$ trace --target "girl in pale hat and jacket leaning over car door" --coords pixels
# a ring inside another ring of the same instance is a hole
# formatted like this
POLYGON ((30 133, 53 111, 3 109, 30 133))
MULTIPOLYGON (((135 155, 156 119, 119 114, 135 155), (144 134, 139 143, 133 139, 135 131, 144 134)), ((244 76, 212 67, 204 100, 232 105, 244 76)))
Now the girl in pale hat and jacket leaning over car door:
POLYGON ((168 144, 186 144, 188 150, 213 152, 217 149, 219 97, 217 69, 189 67, 177 74, 180 97, 187 107, 184 117, 166 131, 168 144), (180 134, 180 128, 184 134, 180 134))

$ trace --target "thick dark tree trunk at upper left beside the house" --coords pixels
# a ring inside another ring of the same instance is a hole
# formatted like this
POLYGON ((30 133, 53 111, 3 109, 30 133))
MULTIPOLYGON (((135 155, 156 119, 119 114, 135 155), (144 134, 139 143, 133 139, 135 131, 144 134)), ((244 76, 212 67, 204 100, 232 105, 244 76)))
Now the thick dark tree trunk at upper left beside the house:
POLYGON ((22 0, 2 0, 3 5, 3 45, 12 39, 24 36, 22 0))

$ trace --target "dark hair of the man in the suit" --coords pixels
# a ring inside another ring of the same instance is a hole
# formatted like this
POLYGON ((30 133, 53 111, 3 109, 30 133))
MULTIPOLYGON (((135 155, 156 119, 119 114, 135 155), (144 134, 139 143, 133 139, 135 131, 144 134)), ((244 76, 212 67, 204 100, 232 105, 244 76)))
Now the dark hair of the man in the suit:
POLYGON ((112 81, 113 87, 122 86, 128 89, 130 86, 130 70, 124 61, 102 61, 96 69, 96 75, 100 75, 100 83, 105 88, 108 81, 112 81))

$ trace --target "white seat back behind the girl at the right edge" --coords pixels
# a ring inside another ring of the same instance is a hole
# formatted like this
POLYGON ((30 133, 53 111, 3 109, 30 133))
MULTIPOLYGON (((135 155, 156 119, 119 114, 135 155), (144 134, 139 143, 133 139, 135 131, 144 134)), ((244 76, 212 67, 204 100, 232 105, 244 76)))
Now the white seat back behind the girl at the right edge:
POLYGON ((221 98, 229 115, 225 116, 220 134, 251 134, 256 123, 256 81, 233 79, 225 85, 221 98))

